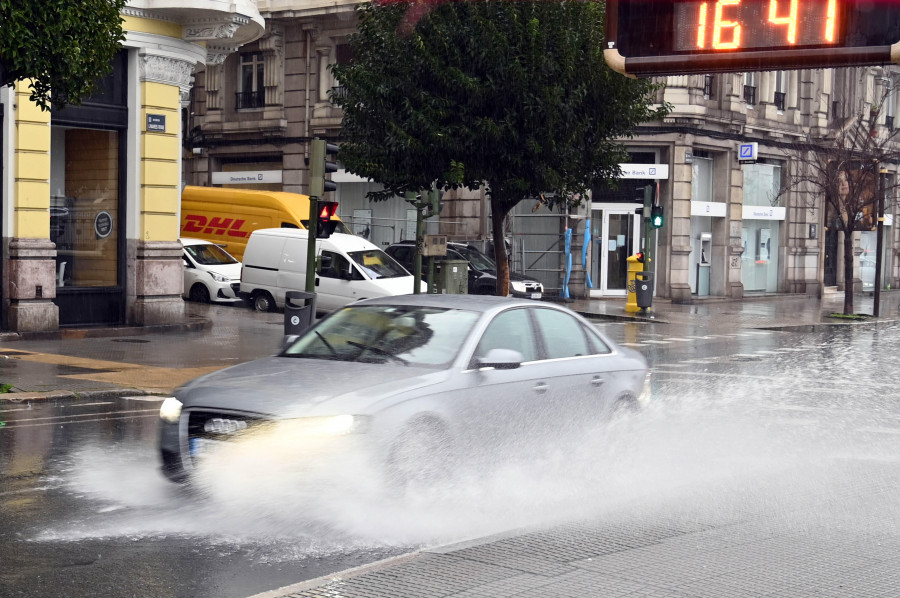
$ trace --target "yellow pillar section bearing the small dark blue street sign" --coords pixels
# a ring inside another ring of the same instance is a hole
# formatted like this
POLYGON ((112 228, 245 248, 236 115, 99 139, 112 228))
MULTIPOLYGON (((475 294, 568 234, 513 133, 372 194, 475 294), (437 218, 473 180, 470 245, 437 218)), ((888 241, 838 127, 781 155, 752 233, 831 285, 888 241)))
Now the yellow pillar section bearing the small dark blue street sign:
POLYGON ((141 240, 178 239, 181 188, 181 95, 177 86, 141 84, 141 240), (165 131, 148 131, 147 115, 166 118, 165 131))

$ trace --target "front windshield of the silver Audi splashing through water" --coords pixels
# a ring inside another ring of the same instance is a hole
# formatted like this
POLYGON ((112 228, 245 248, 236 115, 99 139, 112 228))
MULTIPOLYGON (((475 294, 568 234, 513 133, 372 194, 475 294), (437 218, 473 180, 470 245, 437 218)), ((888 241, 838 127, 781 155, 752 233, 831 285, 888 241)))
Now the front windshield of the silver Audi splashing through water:
POLYGON ((447 366, 478 313, 420 306, 345 307, 289 345, 283 357, 447 366))

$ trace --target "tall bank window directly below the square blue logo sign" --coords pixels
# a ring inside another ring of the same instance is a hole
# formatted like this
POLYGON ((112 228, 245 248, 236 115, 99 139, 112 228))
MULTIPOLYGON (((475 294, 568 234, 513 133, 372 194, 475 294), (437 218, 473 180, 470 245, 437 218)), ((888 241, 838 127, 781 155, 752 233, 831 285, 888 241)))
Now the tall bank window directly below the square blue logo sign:
POLYGON ((746 292, 778 290, 778 251, 785 210, 779 204, 781 167, 744 166, 741 283, 746 292))

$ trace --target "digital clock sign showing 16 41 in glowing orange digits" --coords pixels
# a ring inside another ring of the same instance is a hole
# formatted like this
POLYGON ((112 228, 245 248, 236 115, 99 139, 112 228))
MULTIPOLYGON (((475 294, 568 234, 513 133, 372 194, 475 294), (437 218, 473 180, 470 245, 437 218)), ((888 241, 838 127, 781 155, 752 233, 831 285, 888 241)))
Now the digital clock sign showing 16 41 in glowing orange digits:
POLYGON ((630 76, 900 63, 887 0, 608 0, 607 63, 630 76))

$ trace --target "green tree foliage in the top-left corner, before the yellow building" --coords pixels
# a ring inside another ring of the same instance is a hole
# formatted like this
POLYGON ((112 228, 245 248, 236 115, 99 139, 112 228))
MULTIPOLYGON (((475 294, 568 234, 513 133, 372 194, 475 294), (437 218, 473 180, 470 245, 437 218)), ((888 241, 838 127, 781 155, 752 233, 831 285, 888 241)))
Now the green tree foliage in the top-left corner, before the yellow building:
POLYGON ((0 84, 31 81, 42 109, 78 104, 125 39, 126 0, 0 0, 0 84))

